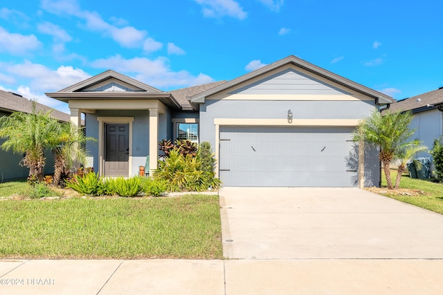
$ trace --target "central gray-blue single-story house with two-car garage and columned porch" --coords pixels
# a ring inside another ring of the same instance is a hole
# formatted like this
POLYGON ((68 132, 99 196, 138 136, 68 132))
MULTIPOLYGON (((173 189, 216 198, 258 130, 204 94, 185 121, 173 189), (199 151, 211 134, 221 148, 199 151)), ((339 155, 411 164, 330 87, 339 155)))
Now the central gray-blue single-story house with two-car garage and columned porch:
MULTIPOLYGON (((379 184, 377 151, 356 162, 352 131, 383 104, 374 91, 289 56, 229 82, 164 92, 112 70, 49 97, 86 115, 93 167, 137 175, 163 139, 213 146, 225 186, 359 187, 379 184), (359 173, 356 171, 359 170, 359 173), (364 178, 363 178, 364 173, 364 178)), ((357 153, 358 154, 358 153, 357 153)), ((150 160, 150 170, 156 169, 150 160)))

